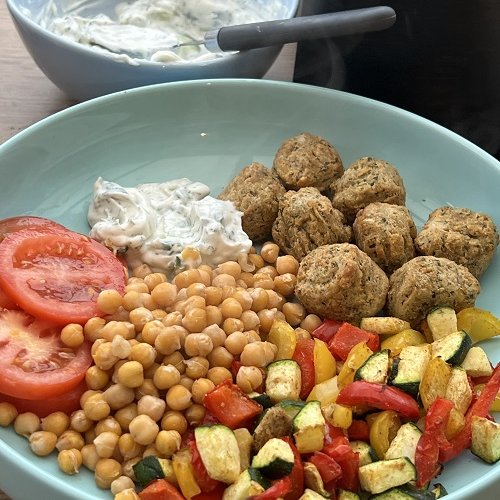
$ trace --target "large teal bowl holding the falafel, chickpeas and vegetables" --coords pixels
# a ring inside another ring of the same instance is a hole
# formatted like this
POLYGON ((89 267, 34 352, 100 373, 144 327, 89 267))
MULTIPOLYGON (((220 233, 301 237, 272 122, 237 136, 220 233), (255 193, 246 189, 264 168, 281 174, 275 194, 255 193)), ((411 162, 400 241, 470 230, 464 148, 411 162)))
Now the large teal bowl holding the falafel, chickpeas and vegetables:
MULTIPOLYGON (((500 226, 500 164, 458 135, 401 109, 311 86, 259 80, 167 83, 101 97, 53 115, 0 146, 0 217, 36 214, 87 232, 98 176, 135 185, 189 177, 214 195, 243 166, 270 166, 281 142, 308 131, 328 139, 345 166, 361 156, 395 165, 420 226, 434 208, 483 211, 500 226)), ((481 280, 478 306, 500 315, 500 257, 481 280)), ((493 363, 500 339, 484 342, 493 363)), ((15 499, 111 498, 90 472, 65 476, 0 429, 0 487, 15 499)), ((449 500, 497 499, 500 463, 469 452, 439 477, 449 500)))

